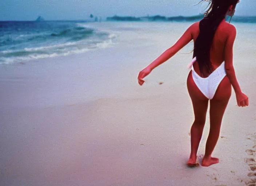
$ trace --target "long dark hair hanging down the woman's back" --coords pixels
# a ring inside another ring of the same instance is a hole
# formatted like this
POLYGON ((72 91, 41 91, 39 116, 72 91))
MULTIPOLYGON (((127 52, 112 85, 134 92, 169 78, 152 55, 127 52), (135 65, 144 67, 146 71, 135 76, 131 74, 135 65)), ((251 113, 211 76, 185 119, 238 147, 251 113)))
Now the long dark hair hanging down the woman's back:
POLYGON ((210 50, 212 46, 213 37, 221 21, 225 19, 226 13, 230 5, 235 9, 239 0, 201 0, 207 1, 208 10, 204 13, 204 19, 199 23, 199 36, 194 45, 193 58, 199 65, 200 73, 204 74, 204 70, 210 74, 213 71, 210 61, 210 50), (204 70, 203 70, 204 69, 204 70))

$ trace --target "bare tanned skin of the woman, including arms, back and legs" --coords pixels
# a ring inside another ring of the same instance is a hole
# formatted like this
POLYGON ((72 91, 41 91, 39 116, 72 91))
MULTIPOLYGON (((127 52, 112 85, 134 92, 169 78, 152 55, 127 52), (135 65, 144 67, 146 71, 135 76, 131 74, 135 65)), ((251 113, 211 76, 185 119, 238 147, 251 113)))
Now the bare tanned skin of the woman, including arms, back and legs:
MULTIPOLYGON (((232 5, 229 7, 227 15, 232 16, 235 13, 232 5)), ((169 49, 167 49, 163 54, 161 54, 156 60, 149 64, 146 68, 141 70, 138 76, 138 82, 143 85, 145 82, 143 78, 147 76, 151 71, 167 61, 173 55, 175 55, 181 48, 187 45, 191 40, 196 41, 199 35, 199 22, 192 24, 187 31, 180 37, 180 39, 169 49)), ((236 38, 236 28, 228 24, 225 19, 220 23, 216 30, 215 36, 213 38, 213 43, 210 51, 210 60, 212 62, 213 69, 218 68, 220 64, 225 61, 225 70, 227 75, 220 82, 216 93, 212 100, 209 101, 207 97, 196 86, 191 71, 187 78, 187 88, 189 96, 191 97, 193 110, 195 115, 195 121, 191 127, 191 154, 187 164, 189 166, 198 166, 196 162, 197 150, 199 143, 203 134, 206 113, 208 108, 208 103, 210 102, 210 131, 206 142, 205 154, 202 160, 202 166, 210 166, 219 163, 218 158, 212 157, 213 149, 220 134, 221 121, 227 107, 229 98, 231 97, 231 90, 233 89, 236 93, 237 105, 240 107, 248 106, 248 97, 241 91, 240 86, 236 79, 235 69, 233 67, 233 44, 236 38)), ((198 63, 193 64, 195 72, 201 74, 199 70, 198 63)), ((201 77, 208 77, 201 76, 201 77)))

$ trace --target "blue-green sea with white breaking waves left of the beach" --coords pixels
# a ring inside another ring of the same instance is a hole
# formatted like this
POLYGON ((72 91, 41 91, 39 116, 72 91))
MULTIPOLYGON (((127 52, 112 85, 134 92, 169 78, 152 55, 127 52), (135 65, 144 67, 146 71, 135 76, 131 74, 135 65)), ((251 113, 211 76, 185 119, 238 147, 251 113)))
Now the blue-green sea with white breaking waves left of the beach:
POLYGON ((0 21, 0 64, 111 46, 116 36, 78 21, 0 21))

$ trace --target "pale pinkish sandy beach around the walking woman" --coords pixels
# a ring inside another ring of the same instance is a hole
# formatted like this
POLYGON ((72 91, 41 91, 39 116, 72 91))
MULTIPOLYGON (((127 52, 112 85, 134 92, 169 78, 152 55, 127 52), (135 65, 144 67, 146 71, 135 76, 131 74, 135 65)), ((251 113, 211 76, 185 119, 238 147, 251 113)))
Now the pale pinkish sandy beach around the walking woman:
MULTIPOLYGON (((220 158, 216 165, 186 165, 194 117, 186 85, 192 54, 185 53, 193 44, 154 69, 143 86, 137 83, 139 71, 190 24, 91 24, 112 29, 115 44, 1 65, 0 185, 255 185, 253 25, 235 24, 234 66, 250 105, 236 106, 232 92, 213 152, 220 158)), ((208 132, 209 113, 200 161, 208 132)))

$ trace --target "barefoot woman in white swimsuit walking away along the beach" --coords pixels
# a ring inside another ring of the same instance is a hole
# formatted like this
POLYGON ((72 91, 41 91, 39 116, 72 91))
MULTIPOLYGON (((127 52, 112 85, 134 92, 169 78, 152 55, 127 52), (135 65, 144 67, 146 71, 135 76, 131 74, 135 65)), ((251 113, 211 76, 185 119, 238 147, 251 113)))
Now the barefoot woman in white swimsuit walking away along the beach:
POLYGON ((237 105, 242 107, 249 105, 248 97, 241 91, 233 67, 236 28, 225 21, 227 15, 234 15, 239 0, 207 0, 207 2, 209 9, 205 12, 204 19, 192 24, 171 48, 141 70, 138 76, 139 84, 143 85, 143 78, 154 68, 171 58, 191 40, 194 41, 193 61, 190 64, 192 70, 187 78, 187 88, 195 115, 191 127, 191 154, 187 162, 188 166, 199 166, 196 154, 209 100, 210 131, 202 166, 219 163, 219 159, 213 158, 211 154, 219 138, 223 114, 231 97, 231 85, 236 93, 237 105))

